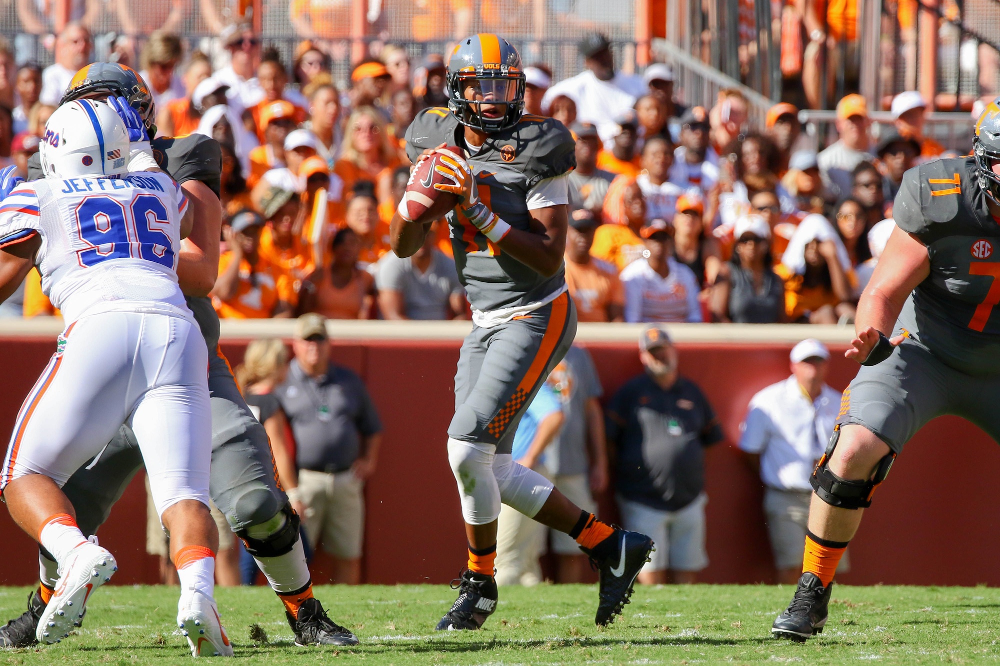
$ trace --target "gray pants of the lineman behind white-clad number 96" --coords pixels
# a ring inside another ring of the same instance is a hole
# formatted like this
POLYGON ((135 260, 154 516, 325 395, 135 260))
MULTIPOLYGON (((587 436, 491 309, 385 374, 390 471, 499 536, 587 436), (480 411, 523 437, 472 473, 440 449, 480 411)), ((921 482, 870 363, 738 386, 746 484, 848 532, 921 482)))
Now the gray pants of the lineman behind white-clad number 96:
MULTIPOLYGON (((273 518, 288 503, 278 487, 267 433, 236 388, 226 359, 209 350, 208 389, 212 402, 212 469, 209 495, 233 531, 273 518)), ((97 532, 111 507, 142 469, 131 428, 122 426, 107 448, 70 477, 63 492, 85 535, 97 532)))

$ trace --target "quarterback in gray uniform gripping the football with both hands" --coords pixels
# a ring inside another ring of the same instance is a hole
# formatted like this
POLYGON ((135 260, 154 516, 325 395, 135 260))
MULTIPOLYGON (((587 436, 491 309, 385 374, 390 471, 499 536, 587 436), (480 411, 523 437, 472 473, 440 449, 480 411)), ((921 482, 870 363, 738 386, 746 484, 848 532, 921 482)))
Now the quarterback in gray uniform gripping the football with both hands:
MULTIPOLYGON (((563 270, 573 137, 556 120, 523 114, 521 57, 496 35, 461 40, 447 80, 448 108, 425 109, 406 133, 411 161, 440 153, 447 166, 436 168, 448 182, 435 188, 461 200, 448 224, 475 324, 462 344, 448 427, 468 568, 458 600, 437 628, 478 629, 495 610, 501 503, 580 543, 598 566, 596 622, 607 624, 627 602, 653 542, 596 520, 510 455, 522 414, 576 332, 563 270)), ((392 221, 392 247, 408 257, 429 226, 400 210, 392 221)))

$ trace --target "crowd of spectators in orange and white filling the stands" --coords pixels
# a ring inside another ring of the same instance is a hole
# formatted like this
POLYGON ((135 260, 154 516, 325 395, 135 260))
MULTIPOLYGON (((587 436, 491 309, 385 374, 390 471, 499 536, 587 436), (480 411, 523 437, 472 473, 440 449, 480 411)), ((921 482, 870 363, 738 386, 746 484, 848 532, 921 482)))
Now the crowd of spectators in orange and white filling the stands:
MULTIPOLYGON (((468 318, 445 220, 412 257, 389 249, 405 132, 421 109, 447 103, 444 58, 411 63, 386 46, 338 85, 321 42, 302 42, 288 63, 249 25, 221 39, 222 67, 162 30, 138 57, 159 134, 222 146, 220 316, 468 318)), ((91 35, 70 23, 54 49, 48 68, 15 69, 0 44, 0 163, 26 171, 53 105, 90 61, 91 35)), ((850 321, 903 172, 943 152, 923 135, 919 93, 894 99, 896 126, 877 144, 864 98, 845 96, 837 140, 817 154, 787 102, 757 131, 738 90, 687 107, 668 65, 625 73, 598 33, 579 49, 585 69, 568 79, 525 68, 525 104, 576 139, 566 275, 581 321, 850 321)), ((54 311, 32 274, 2 313, 54 311)))

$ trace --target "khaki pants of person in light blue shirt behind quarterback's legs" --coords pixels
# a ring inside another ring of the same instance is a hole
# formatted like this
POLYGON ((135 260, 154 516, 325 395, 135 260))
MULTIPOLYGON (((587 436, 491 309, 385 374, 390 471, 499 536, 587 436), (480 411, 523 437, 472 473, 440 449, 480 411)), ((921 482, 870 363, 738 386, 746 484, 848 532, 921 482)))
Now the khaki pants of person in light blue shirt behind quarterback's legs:
MULTIPOLYGON (((552 477, 543 465, 534 471, 547 479, 552 477)), ((548 528, 506 504, 497 518, 497 585, 538 585, 542 582, 542 567, 538 558, 545 552, 548 528)), ((577 551, 579 552, 579 551, 577 551)))

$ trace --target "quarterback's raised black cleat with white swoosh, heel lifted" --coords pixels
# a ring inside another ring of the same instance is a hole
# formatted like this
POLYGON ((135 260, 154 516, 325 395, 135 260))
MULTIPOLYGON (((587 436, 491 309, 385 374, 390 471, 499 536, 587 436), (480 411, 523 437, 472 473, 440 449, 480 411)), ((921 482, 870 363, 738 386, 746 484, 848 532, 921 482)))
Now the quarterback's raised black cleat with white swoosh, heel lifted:
POLYGON ((593 548, 581 546, 580 550, 597 567, 600 581, 594 622, 598 626, 611 624, 629 602, 632 585, 642 565, 649 562, 649 554, 656 550, 653 540, 645 534, 616 528, 611 536, 593 548))

